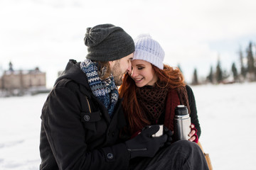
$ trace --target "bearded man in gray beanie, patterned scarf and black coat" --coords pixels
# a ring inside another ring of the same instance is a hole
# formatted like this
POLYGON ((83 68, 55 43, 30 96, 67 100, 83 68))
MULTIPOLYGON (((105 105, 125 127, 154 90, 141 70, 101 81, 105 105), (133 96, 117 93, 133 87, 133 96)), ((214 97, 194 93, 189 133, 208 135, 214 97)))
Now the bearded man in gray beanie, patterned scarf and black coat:
POLYGON ((103 24, 87 28, 85 45, 86 60, 68 62, 43 106, 40 169, 127 169, 129 159, 153 157, 166 142, 151 137, 159 127, 119 140, 126 122, 117 86, 132 69, 132 38, 103 24))

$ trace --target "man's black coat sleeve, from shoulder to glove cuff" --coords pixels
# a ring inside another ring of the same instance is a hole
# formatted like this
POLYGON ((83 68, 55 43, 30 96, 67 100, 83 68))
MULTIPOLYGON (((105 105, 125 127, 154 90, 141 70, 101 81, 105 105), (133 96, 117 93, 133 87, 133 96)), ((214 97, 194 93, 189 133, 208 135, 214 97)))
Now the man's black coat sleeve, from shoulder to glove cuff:
POLYGON ((124 143, 87 152, 80 102, 74 91, 55 87, 42 113, 43 128, 59 169, 126 169, 129 165, 124 143))

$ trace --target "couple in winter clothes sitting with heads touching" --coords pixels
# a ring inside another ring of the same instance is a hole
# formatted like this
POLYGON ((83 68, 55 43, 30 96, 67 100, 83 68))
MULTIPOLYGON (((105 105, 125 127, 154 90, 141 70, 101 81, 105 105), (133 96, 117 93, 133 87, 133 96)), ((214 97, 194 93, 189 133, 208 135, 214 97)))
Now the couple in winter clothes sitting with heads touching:
POLYGON ((163 64, 159 43, 112 24, 87 28, 84 40, 85 61, 68 62, 44 103, 40 169, 208 169, 193 91, 163 64), (190 111, 189 141, 172 140, 179 104, 190 111), (164 135, 151 137, 160 124, 164 135))

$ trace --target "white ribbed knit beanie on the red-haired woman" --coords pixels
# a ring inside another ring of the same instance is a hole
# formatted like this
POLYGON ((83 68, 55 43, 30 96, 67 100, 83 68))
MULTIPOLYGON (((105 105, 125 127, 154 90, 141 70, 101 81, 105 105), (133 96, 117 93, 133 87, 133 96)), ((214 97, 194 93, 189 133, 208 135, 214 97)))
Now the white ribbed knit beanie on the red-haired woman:
POLYGON ((133 60, 145 60, 159 69, 164 69, 164 50, 159 42, 153 40, 149 34, 141 34, 135 40, 133 60))

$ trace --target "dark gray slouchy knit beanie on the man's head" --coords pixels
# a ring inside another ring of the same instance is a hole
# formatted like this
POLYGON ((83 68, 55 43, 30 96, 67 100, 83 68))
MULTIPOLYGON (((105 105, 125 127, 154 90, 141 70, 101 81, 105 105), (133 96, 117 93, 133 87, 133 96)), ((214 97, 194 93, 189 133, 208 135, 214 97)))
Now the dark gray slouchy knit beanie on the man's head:
POLYGON ((87 28, 85 34, 87 59, 94 61, 113 61, 134 52, 134 40, 122 28, 112 24, 102 24, 87 28))

